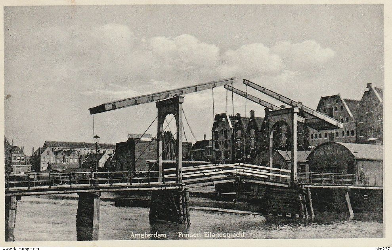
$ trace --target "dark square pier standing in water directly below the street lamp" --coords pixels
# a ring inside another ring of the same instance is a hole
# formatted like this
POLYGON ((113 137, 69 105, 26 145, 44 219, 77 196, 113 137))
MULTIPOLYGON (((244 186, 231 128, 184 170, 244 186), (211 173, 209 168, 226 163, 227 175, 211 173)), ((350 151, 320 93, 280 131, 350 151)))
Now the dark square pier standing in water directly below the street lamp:
POLYGON ((79 193, 76 212, 76 235, 78 240, 98 240, 101 192, 79 193))

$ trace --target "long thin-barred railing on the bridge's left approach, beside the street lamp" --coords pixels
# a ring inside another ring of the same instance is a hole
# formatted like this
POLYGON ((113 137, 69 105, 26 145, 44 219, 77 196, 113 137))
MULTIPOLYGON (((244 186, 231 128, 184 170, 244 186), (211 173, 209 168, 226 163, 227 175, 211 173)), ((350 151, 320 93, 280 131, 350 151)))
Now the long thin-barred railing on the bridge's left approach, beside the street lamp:
POLYGON ((5 176, 5 189, 15 187, 31 188, 36 186, 60 185, 108 185, 116 184, 143 184, 174 182, 176 177, 162 177, 159 171, 133 171, 133 172, 67 172, 46 174, 8 174, 5 176))

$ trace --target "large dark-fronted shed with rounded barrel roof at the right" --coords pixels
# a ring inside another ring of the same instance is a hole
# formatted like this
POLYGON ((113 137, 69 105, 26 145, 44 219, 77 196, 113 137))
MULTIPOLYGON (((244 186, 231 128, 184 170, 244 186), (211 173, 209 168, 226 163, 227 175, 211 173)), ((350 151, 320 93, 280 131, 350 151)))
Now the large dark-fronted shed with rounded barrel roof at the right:
POLYGON ((326 142, 310 152, 311 172, 360 174, 361 168, 370 182, 382 182, 383 146, 326 142))

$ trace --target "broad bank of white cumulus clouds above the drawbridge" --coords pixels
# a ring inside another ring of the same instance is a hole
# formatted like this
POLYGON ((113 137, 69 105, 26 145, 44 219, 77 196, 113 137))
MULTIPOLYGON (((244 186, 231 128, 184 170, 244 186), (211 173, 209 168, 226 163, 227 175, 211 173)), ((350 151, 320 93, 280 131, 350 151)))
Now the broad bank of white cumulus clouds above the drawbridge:
POLYGON ((49 86, 66 82, 83 95, 108 99, 232 76, 288 83, 336 54, 313 40, 280 41, 270 47, 252 43, 222 51, 191 34, 140 38, 127 25, 116 23, 91 29, 54 26, 33 37, 29 49, 38 48, 36 58, 41 60, 24 68, 31 72, 26 81, 44 79, 49 86), (37 65, 45 75, 34 77, 37 65))

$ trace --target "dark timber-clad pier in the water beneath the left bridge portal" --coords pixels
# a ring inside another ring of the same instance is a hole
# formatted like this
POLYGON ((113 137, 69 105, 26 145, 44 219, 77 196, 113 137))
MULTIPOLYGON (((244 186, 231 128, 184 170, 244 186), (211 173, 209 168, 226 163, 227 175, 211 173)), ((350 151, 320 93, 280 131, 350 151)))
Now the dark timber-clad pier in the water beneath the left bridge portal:
POLYGON ((191 224, 188 189, 152 191, 149 220, 191 224))

